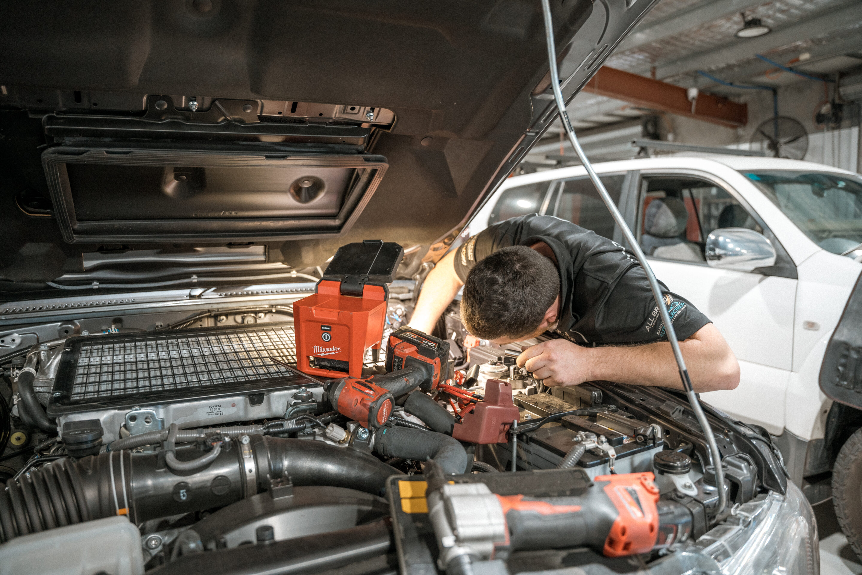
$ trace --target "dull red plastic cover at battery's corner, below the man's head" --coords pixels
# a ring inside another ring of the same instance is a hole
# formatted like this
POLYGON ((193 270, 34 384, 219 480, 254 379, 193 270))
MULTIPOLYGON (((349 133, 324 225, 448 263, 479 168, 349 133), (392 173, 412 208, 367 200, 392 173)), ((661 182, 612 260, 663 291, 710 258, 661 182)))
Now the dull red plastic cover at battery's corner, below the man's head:
POLYGON ((520 417, 512 403, 512 386, 502 379, 489 379, 485 383, 484 400, 476 405, 460 422, 455 423, 452 436, 459 441, 506 443, 506 433, 512 422, 520 417))

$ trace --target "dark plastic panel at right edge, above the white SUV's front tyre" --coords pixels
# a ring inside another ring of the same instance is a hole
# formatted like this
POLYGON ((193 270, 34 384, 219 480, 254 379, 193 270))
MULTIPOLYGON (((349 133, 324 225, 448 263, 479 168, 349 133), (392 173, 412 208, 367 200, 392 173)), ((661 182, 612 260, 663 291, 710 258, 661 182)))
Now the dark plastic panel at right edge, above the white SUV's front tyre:
POLYGON ((862 409, 862 275, 823 356, 820 389, 836 402, 862 409))

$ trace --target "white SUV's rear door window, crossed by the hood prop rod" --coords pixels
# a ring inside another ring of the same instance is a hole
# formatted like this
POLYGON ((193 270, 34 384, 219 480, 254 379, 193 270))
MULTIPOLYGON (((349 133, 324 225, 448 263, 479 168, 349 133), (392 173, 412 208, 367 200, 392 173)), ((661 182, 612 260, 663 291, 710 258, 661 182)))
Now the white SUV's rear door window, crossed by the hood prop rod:
MULTIPOLYGON (((625 178, 625 174, 599 177, 614 203, 620 202, 622 181, 625 178)), ((608 207, 604 205, 602 197, 598 195, 596 186, 593 185, 590 178, 586 176, 573 178, 565 180, 561 184, 563 184, 562 191, 554 199, 553 209, 549 209, 549 213, 613 240, 614 218, 610 215, 608 207)))

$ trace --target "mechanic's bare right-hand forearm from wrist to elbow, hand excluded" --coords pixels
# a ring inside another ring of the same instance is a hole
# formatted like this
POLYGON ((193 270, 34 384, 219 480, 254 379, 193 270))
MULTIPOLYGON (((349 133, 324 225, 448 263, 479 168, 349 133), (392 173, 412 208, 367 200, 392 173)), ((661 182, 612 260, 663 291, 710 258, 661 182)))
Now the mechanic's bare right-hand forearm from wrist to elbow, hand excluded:
MULTIPOLYGON (((680 341, 679 348, 695 391, 732 390, 739 384, 739 363, 712 324, 701 328, 692 338, 680 341)), ((683 389, 667 341, 634 347, 595 347, 590 352, 590 380, 683 389)))

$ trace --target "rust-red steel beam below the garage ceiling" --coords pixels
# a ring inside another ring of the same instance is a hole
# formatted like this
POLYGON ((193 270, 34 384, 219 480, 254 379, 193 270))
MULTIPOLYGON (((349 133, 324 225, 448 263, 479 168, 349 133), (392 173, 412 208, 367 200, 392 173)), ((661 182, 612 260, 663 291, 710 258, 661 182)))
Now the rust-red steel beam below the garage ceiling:
POLYGON ((607 66, 593 76, 584 91, 729 128, 744 126, 748 121, 744 103, 701 92, 692 107, 685 88, 607 66))

